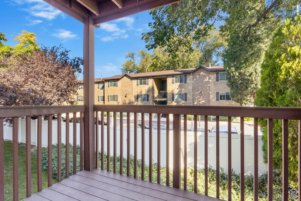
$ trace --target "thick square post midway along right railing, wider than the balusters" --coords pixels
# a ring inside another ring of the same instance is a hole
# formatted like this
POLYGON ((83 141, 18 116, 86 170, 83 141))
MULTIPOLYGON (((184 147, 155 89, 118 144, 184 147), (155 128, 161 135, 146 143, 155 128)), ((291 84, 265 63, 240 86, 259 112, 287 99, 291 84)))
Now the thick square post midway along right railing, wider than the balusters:
POLYGON ((173 115, 173 175, 172 187, 181 187, 181 115, 173 115))

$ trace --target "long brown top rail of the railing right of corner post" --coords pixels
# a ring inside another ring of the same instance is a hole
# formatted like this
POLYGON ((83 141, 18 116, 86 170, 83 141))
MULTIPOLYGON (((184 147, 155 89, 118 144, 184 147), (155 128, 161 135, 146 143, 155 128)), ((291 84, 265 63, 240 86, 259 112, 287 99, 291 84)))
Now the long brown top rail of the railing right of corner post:
POLYGON ((205 116, 253 117, 301 120, 301 108, 242 106, 180 106, 180 105, 94 105, 94 111, 190 114, 205 116))

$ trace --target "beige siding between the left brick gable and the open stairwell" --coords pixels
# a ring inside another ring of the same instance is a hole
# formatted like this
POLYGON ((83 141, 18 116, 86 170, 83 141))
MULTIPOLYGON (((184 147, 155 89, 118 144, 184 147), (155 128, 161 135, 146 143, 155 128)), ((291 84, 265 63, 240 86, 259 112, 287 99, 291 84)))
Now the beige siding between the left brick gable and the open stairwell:
POLYGON ((148 78, 148 85, 138 85, 137 78, 132 81, 133 87, 133 104, 134 105, 152 105, 153 104, 153 78, 148 78), (148 94, 148 101, 137 101, 137 94, 148 94))

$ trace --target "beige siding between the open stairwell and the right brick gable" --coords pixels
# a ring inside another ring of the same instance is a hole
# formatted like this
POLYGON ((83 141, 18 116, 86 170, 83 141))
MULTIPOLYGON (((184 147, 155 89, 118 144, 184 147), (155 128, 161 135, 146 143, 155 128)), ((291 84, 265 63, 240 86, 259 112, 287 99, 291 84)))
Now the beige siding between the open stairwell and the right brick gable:
POLYGON ((187 83, 172 84, 172 75, 167 76, 167 105, 191 105, 191 74, 187 75, 187 83), (172 94, 187 93, 187 101, 172 101, 172 94))

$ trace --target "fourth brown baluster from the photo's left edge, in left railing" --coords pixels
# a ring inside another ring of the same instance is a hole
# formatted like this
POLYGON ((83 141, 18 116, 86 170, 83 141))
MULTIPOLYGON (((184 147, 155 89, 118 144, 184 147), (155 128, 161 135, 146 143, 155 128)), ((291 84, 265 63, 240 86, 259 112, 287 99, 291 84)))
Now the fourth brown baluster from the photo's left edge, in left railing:
POLYGON ((37 180, 38 192, 42 190, 42 115, 38 116, 37 180))

